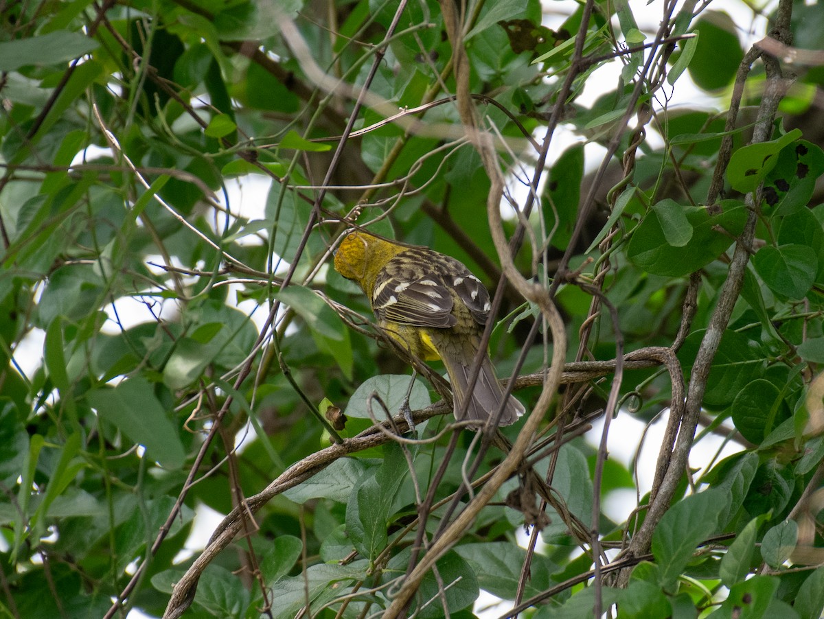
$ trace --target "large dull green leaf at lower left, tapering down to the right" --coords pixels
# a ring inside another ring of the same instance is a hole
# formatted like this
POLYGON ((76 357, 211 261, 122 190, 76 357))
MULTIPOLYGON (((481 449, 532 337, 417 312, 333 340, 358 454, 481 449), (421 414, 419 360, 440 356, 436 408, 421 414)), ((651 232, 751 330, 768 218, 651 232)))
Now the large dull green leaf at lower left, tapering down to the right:
POLYGON ((146 379, 125 379, 115 389, 94 389, 87 397, 102 419, 114 424, 133 443, 142 444, 147 457, 166 468, 183 465, 185 452, 180 435, 146 379))

